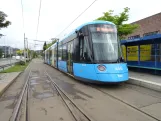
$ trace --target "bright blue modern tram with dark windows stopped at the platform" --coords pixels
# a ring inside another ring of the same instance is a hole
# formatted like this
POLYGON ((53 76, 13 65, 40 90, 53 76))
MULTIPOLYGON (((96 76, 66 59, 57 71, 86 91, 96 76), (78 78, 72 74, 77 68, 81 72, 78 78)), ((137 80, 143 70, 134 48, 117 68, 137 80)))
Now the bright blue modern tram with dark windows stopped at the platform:
POLYGON ((79 26, 45 50, 45 63, 81 81, 118 83, 128 80, 116 26, 108 21, 79 26))

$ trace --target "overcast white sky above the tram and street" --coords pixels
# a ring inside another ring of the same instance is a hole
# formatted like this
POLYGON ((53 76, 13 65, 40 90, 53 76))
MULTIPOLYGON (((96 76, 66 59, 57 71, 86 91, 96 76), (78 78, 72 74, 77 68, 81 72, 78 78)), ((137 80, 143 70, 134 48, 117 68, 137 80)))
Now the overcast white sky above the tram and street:
POLYGON ((44 43, 34 40, 49 42, 51 38, 61 39, 77 26, 93 21, 109 10, 114 10, 114 15, 117 15, 123 11, 123 8, 129 7, 127 23, 161 12, 161 0, 97 0, 68 29, 61 33, 93 1, 42 0, 37 33, 40 0, 22 0, 23 17, 21 0, 0 0, 0 11, 5 12, 8 15, 6 19, 12 22, 8 28, 0 30, 0 33, 5 35, 0 38, 0 45, 23 48, 25 33, 29 48, 39 50, 42 49, 44 43))

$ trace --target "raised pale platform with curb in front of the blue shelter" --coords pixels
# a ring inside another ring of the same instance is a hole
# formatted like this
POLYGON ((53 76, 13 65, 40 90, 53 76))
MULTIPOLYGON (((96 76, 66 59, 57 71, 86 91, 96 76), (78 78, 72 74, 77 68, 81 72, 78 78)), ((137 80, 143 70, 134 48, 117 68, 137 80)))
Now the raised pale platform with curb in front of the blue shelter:
POLYGON ((161 92, 161 76, 158 75, 129 71, 128 83, 161 92))

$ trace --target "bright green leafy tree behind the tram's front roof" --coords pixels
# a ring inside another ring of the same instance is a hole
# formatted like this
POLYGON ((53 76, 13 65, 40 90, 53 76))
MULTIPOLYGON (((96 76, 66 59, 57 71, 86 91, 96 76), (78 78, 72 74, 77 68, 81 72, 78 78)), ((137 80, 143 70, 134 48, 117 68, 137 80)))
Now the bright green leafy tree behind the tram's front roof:
POLYGON ((108 12, 104 12, 102 17, 97 18, 97 20, 105 20, 113 22, 118 31, 118 36, 120 39, 125 39, 128 34, 133 33, 137 28, 137 24, 124 24, 124 22, 129 20, 129 10, 130 8, 124 8, 124 11, 119 15, 113 15, 113 10, 109 10, 108 12))

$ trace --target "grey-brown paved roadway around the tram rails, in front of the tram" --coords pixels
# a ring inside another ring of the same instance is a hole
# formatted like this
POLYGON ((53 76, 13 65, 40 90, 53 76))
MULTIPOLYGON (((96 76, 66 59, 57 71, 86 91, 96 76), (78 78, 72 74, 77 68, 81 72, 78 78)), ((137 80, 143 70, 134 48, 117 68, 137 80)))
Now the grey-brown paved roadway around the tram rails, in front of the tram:
MULTIPOLYGON (((159 92, 126 83, 120 85, 82 83, 36 59, 0 98, 0 119, 3 121, 8 121, 11 117, 29 70, 31 70, 28 99, 30 121, 74 120, 56 90, 52 88, 45 72, 94 121, 161 120, 159 92)), ((21 110, 23 112, 24 109, 21 110)), ((20 117, 22 121, 23 114, 20 117)))

